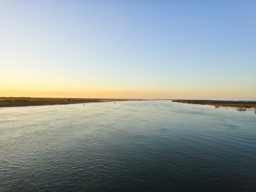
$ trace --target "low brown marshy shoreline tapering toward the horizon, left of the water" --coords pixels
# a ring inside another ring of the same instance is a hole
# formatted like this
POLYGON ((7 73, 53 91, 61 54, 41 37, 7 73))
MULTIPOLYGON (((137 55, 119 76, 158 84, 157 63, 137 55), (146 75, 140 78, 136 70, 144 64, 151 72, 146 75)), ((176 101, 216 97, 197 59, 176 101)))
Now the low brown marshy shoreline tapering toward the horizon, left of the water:
POLYGON ((21 107, 37 105, 64 105, 75 103, 137 101, 141 99, 92 99, 92 98, 37 98, 37 97, 0 97, 0 107, 21 107))

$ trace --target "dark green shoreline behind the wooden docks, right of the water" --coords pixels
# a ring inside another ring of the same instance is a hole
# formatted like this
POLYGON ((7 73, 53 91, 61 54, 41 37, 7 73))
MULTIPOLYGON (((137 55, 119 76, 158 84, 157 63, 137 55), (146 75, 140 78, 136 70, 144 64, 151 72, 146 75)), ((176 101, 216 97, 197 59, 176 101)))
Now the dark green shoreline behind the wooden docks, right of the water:
POLYGON ((222 101, 222 100, 183 100, 175 99, 172 102, 200 104, 200 105, 214 105, 214 106, 226 106, 226 107, 245 107, 256 108, 256 101, 222 101))

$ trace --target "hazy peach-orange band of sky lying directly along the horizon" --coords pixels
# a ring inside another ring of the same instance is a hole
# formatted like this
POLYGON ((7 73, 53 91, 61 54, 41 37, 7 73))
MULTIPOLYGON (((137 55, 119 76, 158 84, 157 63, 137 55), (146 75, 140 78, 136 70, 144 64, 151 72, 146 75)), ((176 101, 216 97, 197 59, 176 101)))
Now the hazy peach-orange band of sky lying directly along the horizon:
POLYGON ((246 100, 255 93, 241 91, 202 92, 202 91, 129 91, 129 90, 85 90, 85 91, 21 91, 0 90, 0 97, 49 97, 49 98, 116 98, 116 99, 205 99, 211 100, 246 100), (223 95, 221 98, 219 95, 223 95), (236 95, 236 97, 234 97, 236 95), (238 97, 239 96, 239 97, 238 97))

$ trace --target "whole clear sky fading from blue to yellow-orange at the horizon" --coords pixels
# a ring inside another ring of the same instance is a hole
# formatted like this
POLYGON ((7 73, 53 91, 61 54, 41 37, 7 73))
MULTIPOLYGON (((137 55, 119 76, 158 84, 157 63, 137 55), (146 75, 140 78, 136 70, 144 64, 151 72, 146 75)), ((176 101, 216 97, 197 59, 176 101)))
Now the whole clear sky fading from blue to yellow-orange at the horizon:
POLYGON ((0 96, 256 100, 256 1, 1 0, 0 96))

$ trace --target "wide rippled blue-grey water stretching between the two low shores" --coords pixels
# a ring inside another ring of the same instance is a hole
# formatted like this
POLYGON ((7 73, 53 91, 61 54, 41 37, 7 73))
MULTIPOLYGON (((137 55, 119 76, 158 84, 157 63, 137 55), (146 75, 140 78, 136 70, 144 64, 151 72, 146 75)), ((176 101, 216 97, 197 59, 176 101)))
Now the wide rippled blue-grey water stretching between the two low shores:
POLYGON ((0 108, 0 191, 254 191, 255 125, 168 101, 0 108))

